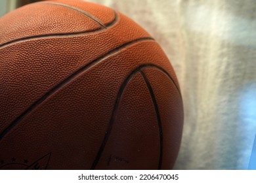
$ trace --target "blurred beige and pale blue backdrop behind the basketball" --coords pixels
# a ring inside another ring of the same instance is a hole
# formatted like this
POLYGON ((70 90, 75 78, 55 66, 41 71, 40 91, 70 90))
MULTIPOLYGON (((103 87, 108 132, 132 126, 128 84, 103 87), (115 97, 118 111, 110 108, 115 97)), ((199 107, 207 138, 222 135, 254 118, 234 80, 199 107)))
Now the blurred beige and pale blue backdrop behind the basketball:
MULTIPOLYGON (((171 61, 185 115, 175 169, 256 169, 256 3, 90 1, 135 20, 171 61)), ((0 16, 32 2, 0 0, 0 16)))

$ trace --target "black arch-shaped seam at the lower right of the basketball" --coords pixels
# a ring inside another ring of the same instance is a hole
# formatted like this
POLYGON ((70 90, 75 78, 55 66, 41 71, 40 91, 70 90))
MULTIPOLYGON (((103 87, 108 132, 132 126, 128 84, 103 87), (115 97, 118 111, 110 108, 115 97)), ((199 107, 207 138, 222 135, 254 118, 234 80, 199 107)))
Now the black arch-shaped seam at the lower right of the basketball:
MULTIPOLYGON (((104 136, 104 139, 102 141, 102 144, 100 145, 100 148, 98 149, 98 153, 96 154, 95 157, 95 161, 93 161, 93 165, 91 166, 91 170, 95 169, 96 165, 98 164, 98 161, 100 160, 100 157, 104 151, 104 148, 106 146, 106 143, 108 142, 108 138, 110 137, 110 133, 112 130, 112 126, 114 125, 114 120, 116 119, 116 112, 117 112, 117 108, 119 106, 119 101, 121 99, 121 95, 123 93, 123 90, 125 90, 125 86, 127 85, 127 83, 129 82, 129 80, 131 80, 131 78, 133 78, 133 76, 135 76, 139 71, 141 71, 141 69, 144 68, 156 68, 159 69, 160 71, 162 71, 163 73, 165 73, 165 75, 167 75, 167 77, 171 80, 171 82, 173 82, 173 84, 175 85, 180 97, 181 97, 181 93, 179 92, 179 88, 177 87, 177 85, 175 84, 173 78, 171 77, 171 75, 169 75, 169 73, 167 73, 167 71, 165 71, 163 68, 159 67, 158 65, 154 65, 154 64, 144 64, 144 65, 140 65, 139 67, 137 67, 137 69, 133 70, 128 76, 127 78, 124 80, 123 84, 121 85, 119 92, 117 93, 117 97, 116 97, 116 103, 114 105, 114 110, 112 112, 112 116, 110 118, 110 123, 108 124, 108 129, 106 131, 106 134, 104 136)), ((159 166, 159 165, 158 165, 159 166)))

